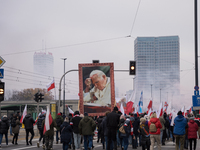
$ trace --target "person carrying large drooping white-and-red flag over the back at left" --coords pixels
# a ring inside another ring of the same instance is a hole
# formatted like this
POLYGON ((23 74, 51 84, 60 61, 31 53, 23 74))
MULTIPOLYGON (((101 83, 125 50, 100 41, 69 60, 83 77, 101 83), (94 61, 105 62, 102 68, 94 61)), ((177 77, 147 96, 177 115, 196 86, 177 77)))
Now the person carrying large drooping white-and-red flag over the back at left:
POLYGON ((43 134, 45 136, 45 146, 47 150, 53 149, 54 127, 57 127, 57 124, 53 120, 49 107, 47 106, 46 118, 42 121, 42 128, 44 128, 43 134))

